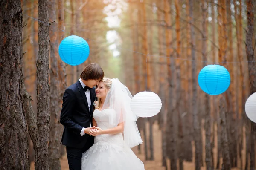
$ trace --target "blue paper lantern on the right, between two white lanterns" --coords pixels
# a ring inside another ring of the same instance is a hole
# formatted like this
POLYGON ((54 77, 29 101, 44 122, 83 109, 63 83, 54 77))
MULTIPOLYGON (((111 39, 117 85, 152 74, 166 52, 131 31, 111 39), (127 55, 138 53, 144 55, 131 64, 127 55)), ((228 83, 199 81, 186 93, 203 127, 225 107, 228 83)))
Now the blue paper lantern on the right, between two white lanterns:
POLYGON ((230 74, 218 64, 205 66, 198 75, 200 88, 209 95, 219 95, 230 85, 230 74))

